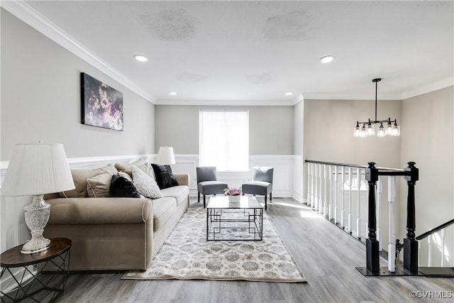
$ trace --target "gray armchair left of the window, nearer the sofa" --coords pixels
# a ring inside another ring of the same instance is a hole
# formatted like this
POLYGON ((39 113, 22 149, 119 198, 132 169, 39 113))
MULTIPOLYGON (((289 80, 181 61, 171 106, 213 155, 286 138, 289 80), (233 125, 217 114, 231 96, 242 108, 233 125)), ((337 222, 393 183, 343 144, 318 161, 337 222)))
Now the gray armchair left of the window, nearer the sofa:
POLYGON ((223 194, 224 189, 228 188, 228 184, 220 182, 216 176, 216 167, 214 166, 201 166, 196 167, 197 175, 197 192, 199 197, 197 203, 200 202, 200 194, 204 195, 204 208, 206 207, 205 196, 206 194, 223 194))

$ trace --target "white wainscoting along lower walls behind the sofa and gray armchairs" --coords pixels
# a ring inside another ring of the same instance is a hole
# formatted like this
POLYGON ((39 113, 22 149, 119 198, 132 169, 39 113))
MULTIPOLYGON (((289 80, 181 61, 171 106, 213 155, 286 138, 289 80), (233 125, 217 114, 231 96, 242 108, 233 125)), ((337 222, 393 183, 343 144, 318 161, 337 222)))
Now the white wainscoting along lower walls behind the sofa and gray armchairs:
MULTIPOLYGON (((155 154, 145 155, 114 155, 105 157, 68 158, 71 169, 91 170, 96 167, 121 162, 130 163, 138 159, 154 162, 155 154)), ((196 167, 199 165, 199 155, 175 155, 176 164, 172 165, 173 172, 189 174, 189 194, 197 195, 196 167)), ((0 162, 0 182, 3 182, 8 167, 8 161, 0 162)), ((218 180, 226 182, 231 187, 240 187, 252 179, 253 166, 275 167, 273 196, 294 197, 301 201, 301 156, 297 155, 250 155, 248 172, 218 172, 218 180)), ((20 243, 30 236, 30 231, 23 219, 23 207, 30 204, 31 197, 1 197, 1 246, 3 252, 20 243)))

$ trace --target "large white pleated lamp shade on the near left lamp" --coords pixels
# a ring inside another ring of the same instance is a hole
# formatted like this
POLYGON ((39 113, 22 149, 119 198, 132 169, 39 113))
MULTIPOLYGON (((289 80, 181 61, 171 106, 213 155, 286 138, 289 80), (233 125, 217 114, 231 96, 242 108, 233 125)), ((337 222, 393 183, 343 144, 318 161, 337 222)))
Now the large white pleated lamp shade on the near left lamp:
POLYGON ((3 196, 50 194, 74 189, 65 149, 57 143, 18 143, 1 185, 3 196))

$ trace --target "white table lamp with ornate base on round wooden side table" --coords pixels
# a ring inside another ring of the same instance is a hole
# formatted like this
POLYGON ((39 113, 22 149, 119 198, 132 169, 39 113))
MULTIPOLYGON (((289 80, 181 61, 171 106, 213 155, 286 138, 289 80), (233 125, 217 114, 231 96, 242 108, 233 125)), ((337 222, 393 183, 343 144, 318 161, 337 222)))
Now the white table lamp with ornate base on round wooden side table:
POLYGON ((62 144, 15 145, 1 185, 1 194, 7 197, 33 196, 31 204, 24 207, 31 240, 23 245, 21 253, 36 253, 50 246, 50 240, 43 237, 50 215, 50 204, 44 201, 44 194, 74 188, 70 165, 62 144))

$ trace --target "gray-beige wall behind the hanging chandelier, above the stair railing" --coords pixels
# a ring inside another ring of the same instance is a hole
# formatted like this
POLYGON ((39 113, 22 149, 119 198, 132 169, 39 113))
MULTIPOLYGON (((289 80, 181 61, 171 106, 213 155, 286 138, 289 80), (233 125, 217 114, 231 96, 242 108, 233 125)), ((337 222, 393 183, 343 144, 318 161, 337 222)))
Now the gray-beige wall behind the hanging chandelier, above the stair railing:
MULTIPOLYGON (((402 101, 378 100, 377 108, 378 119, 402 121, 402 101)), ((374 100, 304 100, 304 159, 401 167, 401 137, 353 137, 356 121, 374 117, 374 100)))

